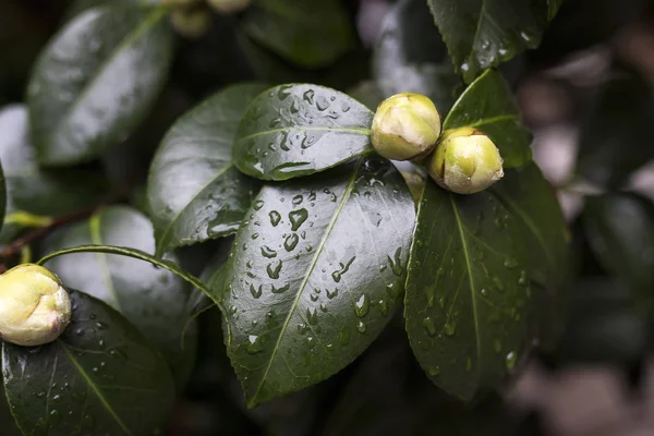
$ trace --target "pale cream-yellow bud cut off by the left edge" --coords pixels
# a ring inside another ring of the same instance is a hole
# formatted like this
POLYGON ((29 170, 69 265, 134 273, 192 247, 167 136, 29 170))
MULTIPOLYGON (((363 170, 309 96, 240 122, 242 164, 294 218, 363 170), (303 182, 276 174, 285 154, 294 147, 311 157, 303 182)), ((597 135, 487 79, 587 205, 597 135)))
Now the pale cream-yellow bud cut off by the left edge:
POLYGON ((0 338, 19 346, 52 342, 71 320, 71 300, 61 280, 34 264, 0 276, 0 338))

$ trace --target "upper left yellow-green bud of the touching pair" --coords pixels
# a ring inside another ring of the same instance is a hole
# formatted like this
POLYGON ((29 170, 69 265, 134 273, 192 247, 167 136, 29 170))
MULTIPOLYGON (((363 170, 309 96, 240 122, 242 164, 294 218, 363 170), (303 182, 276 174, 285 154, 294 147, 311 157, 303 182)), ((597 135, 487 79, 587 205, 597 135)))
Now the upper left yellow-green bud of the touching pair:
POLYGON ((402 93, 382 101, 373 118, 371 140, 385 158, 417 159, 434 150, 440 129, 440 114, 429 98, 402 93))

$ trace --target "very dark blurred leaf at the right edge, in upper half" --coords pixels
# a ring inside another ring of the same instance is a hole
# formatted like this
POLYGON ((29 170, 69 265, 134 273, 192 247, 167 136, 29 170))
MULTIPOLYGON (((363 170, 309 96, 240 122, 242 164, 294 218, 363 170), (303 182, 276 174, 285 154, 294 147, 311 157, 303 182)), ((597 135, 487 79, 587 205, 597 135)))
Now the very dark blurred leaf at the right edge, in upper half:
POLYGON ((650 83, 635 72, 616 70, 581 126, 577 172, 591 182, 619 187, 633 170, 654 159, 644 128, 653 124, 650 83))

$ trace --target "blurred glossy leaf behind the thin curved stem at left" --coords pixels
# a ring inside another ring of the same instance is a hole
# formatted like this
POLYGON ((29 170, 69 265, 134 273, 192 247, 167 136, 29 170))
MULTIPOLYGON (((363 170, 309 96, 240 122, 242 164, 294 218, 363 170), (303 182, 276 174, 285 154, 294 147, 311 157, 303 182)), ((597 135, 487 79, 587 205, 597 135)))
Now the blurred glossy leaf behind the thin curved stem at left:
MULTIPOLYGON (((152 253, 153 226, 141 213, 114 206, 57 231, 43 242, 41 252, 87 244, 123 245, 152 253)), ((177 263, 174 256, 168 259, 177 263)), ((87 289, 90 295, 123 314, 161 351, 175 376, 187 375, 180 335, 192 307, 189 307, 190 292, 180 278, 131 257, 102 253, 57 257, 48 268, 68 287, 87 289)), ((193 344, 194 339, 186 338, 185 343, 193 344)))

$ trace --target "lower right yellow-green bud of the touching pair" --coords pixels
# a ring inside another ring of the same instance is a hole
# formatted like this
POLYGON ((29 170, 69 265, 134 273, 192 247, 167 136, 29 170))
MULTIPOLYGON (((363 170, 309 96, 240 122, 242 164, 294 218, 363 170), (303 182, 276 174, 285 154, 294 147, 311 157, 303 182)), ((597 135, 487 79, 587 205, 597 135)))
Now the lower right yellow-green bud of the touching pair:
POLYGON ((443 133, 428 170, 436 183, 457 194, 473 194, 504 177, 499 150, 484 133, 473 128, 443 133))

